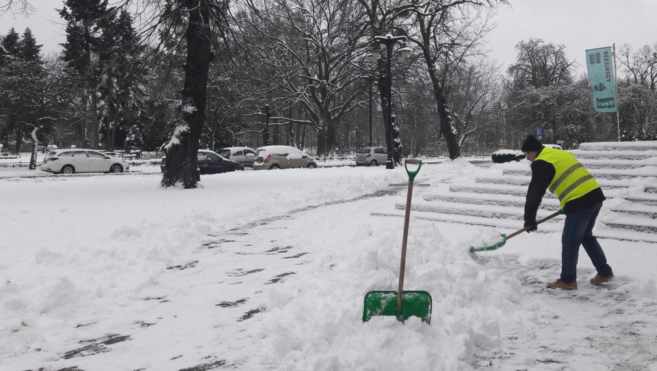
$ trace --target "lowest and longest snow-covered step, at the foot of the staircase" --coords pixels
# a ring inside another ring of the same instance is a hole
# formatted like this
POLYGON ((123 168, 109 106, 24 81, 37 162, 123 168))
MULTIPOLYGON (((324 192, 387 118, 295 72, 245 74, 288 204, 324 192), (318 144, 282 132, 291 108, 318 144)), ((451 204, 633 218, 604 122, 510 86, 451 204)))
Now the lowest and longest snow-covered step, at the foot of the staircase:
MULTIPOLYGON (((397 216, 404 217, 403 210, 397 209, 380 209, 371 212, 373 216, 397 216)), ((484 218, 481 216, 469 216, 459 214, 441 214, 434 212, 411 212, 412 218, 433 220, 435 222, 459 223, 466 225, 480 225, 486 227, 500 228, 500 233, 510 234, 519 229, 522 229, 520 220, 504 219, 504 218, 484 218)), ((561 220, 563 216, 558 216, 554 219, 561 220)), ((554 220, 553 219, 553 220, 554 220)), ((598 222, 594 234, 597 238, 609 238, 613 240, 623 241, 639 241, 639 242, 652 242, 657 243, 657 234, 654 232, 637 231, 636 229, 626 229, 618 223, 616 225, 598 222), (617 227, 618 226, 618 227, 617 227)), ((563 230, 563 223, 550 221, 539 225, 538 233, 561 233, 563 230)))

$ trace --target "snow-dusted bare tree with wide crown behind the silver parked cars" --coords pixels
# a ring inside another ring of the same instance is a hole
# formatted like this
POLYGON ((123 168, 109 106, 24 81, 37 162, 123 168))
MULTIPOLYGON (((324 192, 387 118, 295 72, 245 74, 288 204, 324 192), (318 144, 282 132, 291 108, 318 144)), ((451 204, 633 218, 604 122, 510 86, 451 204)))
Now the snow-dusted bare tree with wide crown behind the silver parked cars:
MULTIPOLYGON (((339 120, 352 110, 361 74, 355 50, 363 36, 357 4, 348 0, 246 0, 233 32, 241 52, 233 53, 283 125, 318 131, 318 153, 334 147, 339 120), (305 115, 285 116, 302 107, 305 115)), ((263 103, 265 103, 263 102, 263 103)))

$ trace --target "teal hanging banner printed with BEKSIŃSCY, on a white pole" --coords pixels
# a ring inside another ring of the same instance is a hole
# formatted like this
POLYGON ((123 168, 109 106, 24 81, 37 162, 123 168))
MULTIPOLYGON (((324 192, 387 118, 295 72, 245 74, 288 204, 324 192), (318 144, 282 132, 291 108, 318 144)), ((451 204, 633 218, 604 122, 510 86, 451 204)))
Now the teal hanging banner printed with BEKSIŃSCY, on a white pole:
POLYGON ((597 112, 618 112, 611 47, 587 50, 587 69, 593 89, 593 108, 597 112))

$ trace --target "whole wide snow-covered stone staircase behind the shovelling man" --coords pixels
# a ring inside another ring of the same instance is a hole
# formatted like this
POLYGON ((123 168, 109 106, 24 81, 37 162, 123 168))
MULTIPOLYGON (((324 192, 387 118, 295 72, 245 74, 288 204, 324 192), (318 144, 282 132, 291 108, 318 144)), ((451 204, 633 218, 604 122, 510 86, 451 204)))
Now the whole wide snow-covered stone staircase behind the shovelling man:
MULTIPOLYGON (((657 142, 584 143, 571 151, 600 183, 607 201, 598 217, 600 238, 657 243, 657 142)), ((531 179, 528 162, 495 164, 475 181, 450 183, 413 197, 414 218, 485 225, 507 230, 522 226, 525 196, 531 179)), ((403 216, 405 203, 373 215, 403 216)), ((537 214, 544 218, 560 209, 547 192, 537 214)), ((548 220, 539 231, 561 232, 563 218, 548 220)))

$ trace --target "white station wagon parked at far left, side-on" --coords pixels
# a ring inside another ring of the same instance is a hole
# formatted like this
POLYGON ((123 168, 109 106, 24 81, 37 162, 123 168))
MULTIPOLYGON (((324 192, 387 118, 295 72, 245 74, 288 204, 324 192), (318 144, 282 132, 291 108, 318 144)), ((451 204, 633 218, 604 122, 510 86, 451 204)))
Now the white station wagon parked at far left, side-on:
POLYGON ((73 174, 75 172, 123 172, 130 164, 93 149, 58 149, 44 156, 41 170, 73 174))

